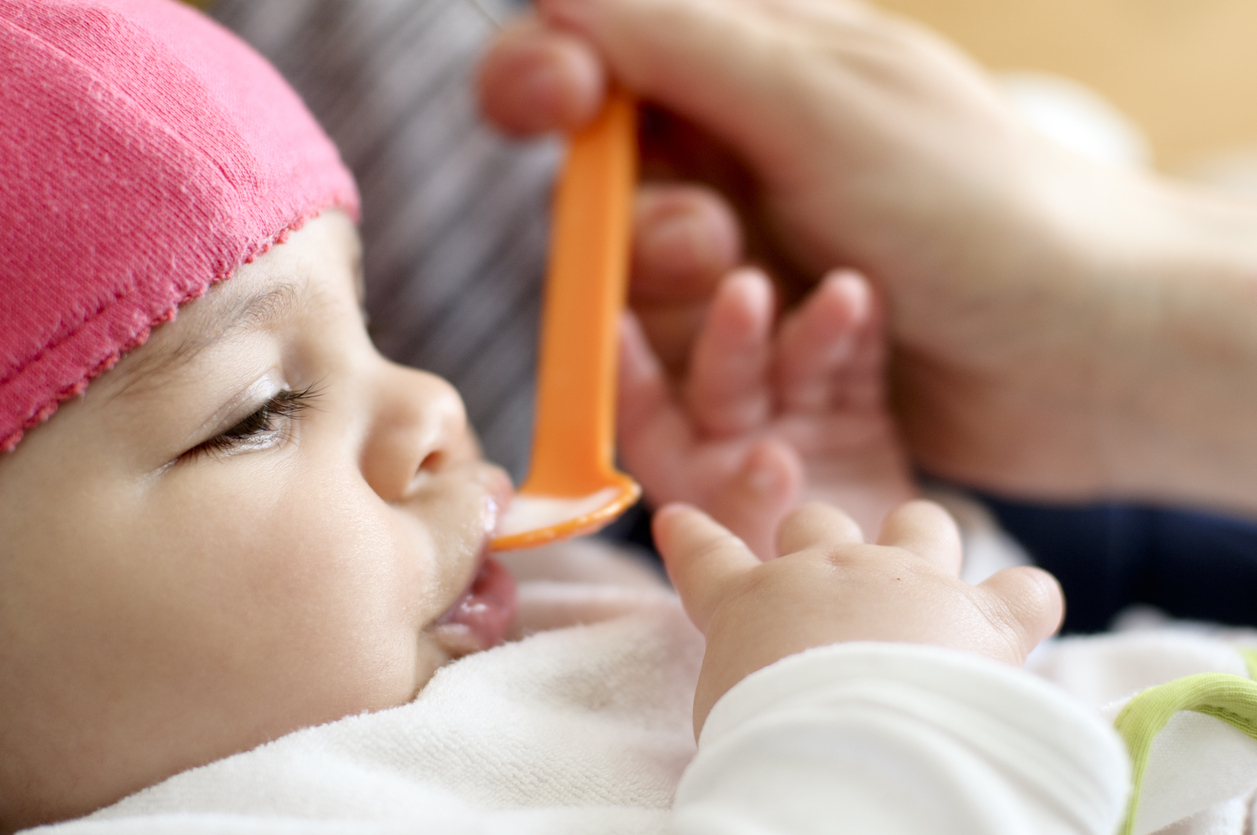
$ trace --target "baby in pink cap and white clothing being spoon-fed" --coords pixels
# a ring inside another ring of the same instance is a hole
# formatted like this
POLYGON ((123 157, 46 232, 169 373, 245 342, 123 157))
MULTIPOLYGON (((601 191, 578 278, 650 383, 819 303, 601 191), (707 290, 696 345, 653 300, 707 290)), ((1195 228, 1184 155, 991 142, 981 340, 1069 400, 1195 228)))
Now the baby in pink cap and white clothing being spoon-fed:
POLYGON ((728 528, 655 521, 701 638, 662 591, 564 619, 488 553, 458 394, 372 347, 352 179, 274 70, 172 0, 0 0, 0 830, 155 783, 70 829, 1114 829, 1116 737, 1016 669, 1051 578, 960 582, 908 500, 862 278, 772 336, 730 277, 684 401, 627 327, 625 458, 728 528))

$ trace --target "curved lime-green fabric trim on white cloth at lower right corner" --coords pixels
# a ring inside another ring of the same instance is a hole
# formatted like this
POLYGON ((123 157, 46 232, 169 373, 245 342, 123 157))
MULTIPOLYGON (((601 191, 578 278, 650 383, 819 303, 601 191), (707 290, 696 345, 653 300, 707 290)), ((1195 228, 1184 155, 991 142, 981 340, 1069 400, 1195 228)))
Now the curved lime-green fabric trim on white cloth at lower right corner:
MULTIPOLYGON (((1249 672, 1257 668, 1257 650, 1244 651, 1244 661, 1249 672)), ((1133 698, 1114 722, 1126 742, 1131 765, 1130 806, 1121 835, 1131 835, 1135 827, 1153 739, 1179 711, 1216 717, 1257 739, 1257 682, 1251 679, 1229 673, 1200 673, 1148 688, 1133 698)))

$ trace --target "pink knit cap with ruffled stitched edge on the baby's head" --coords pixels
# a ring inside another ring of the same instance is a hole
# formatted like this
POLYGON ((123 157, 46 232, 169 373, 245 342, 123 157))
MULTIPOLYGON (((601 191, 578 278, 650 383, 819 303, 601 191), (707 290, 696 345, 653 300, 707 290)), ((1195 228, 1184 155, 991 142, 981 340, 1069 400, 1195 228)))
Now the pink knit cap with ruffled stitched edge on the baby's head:
POLYGON ((175 0, 0 0, 0 450, 358 195, 297 94, 175 0))

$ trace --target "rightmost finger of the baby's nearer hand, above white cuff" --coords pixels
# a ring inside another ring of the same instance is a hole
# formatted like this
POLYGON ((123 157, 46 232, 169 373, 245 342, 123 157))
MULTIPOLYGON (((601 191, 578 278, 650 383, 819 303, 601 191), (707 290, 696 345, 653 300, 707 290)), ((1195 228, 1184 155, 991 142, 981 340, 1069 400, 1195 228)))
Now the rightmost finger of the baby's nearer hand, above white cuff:
POLYGON ((1011 664, 1023 664, 1031 650, 1053 635, 1065 619, 1061 583, 1042 568, 1004 568, 978 589, 987 592, 987 616, 1004 628, 1011 664))

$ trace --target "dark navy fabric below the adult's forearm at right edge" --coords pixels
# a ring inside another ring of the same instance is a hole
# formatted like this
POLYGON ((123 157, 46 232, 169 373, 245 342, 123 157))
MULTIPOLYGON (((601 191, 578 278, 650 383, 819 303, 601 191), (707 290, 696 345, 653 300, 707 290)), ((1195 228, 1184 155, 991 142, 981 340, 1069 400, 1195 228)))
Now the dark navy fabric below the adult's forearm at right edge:
POLYGON ((1164 508, 1045 507, 983 497, 1065 589, 1067 633, 1094 633, 1131 604, 1174 617, 1257 625, 1257 523, 1164 508))

